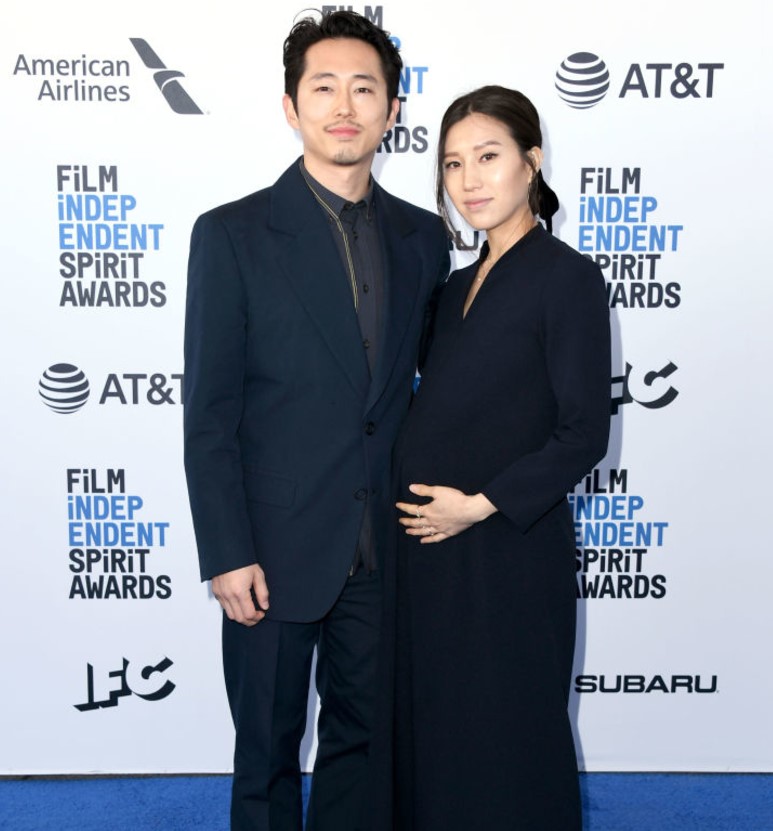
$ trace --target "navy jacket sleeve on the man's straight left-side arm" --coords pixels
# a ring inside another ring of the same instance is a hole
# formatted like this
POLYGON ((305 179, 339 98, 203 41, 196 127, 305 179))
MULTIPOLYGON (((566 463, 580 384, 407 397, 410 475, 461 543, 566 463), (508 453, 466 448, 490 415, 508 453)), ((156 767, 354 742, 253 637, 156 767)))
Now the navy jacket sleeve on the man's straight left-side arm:
POLYGON ((222 217, 191 236, 185 313, 185 473, 202 580, 255 562, 238 441, 246 297, 222 217))

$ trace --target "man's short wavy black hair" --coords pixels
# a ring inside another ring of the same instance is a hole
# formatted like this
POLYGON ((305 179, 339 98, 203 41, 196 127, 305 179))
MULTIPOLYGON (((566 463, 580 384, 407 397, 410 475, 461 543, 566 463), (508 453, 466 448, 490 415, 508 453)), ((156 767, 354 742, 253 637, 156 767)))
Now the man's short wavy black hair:
POLYGON ((357 12, 330 12, 321 19, 305 17, 290 30, 284 42, 285 93, 298 107, 298 82, 306 69, 306 52, 321 40, 352 38, 372 46, 381 59, 389 103, 397 98, 403 61, 397 47, 385 32, 357 12))

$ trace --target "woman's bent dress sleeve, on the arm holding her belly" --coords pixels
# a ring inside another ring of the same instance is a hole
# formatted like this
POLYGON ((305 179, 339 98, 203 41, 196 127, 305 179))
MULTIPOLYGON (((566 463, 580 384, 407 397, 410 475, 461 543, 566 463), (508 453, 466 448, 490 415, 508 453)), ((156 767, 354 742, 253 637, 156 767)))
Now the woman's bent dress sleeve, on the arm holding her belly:
POLYGON ((609 439, 611 350, 604 278, 579 255, 561 260, 546 275, 541 304, 555 429, 543 447, 519 458, 483 488, 522 531, 604 457, 609 439))

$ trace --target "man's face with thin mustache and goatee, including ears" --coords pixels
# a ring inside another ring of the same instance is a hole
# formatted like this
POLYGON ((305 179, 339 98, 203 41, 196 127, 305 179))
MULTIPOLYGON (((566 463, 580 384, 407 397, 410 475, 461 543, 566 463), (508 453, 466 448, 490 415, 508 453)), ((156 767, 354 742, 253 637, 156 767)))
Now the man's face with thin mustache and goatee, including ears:
POLYGON ((327 39, 306 51, 297 107, 289 95, 287 122, 301 133, 306 166, 367 165, 395 123, 399 102, 388 101, 376 50, 361 40, 327 39))

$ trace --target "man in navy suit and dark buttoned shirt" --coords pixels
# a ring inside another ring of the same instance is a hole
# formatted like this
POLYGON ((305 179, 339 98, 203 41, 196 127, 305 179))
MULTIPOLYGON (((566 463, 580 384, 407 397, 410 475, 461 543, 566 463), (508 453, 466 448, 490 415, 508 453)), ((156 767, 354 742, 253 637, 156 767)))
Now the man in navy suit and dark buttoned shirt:
POLYGON ((303 158, 193 231, 185 462, 202 578, 225 612, 231 827, 301 828, 316 646, 307 828, 347 831, 364 808, 389 458, 448 243, 370 176, 399 107, 386 33, 351 12, 306 19, 284 64, 303 158))

